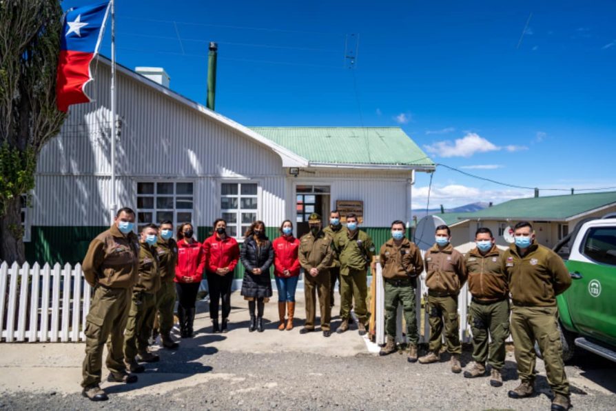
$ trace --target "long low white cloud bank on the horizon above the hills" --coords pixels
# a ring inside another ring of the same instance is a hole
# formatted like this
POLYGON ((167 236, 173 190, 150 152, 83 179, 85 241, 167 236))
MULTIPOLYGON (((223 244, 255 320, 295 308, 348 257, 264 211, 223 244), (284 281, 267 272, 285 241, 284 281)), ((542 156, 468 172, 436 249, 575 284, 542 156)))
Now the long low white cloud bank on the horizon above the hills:
MULTIPOLYGON (((465 204, 477 203, 478 201, 502 203, 522 197, 533 197, 531 190, 485 190, 477 187, 451 184, 444 187, 432 187, 430 190, 430 208, 438 208, 442 204, 444 208, 464 206, 465 204)), ((413 188, 413 209, 426 208, 428 201, 428 187, 413 188)))

